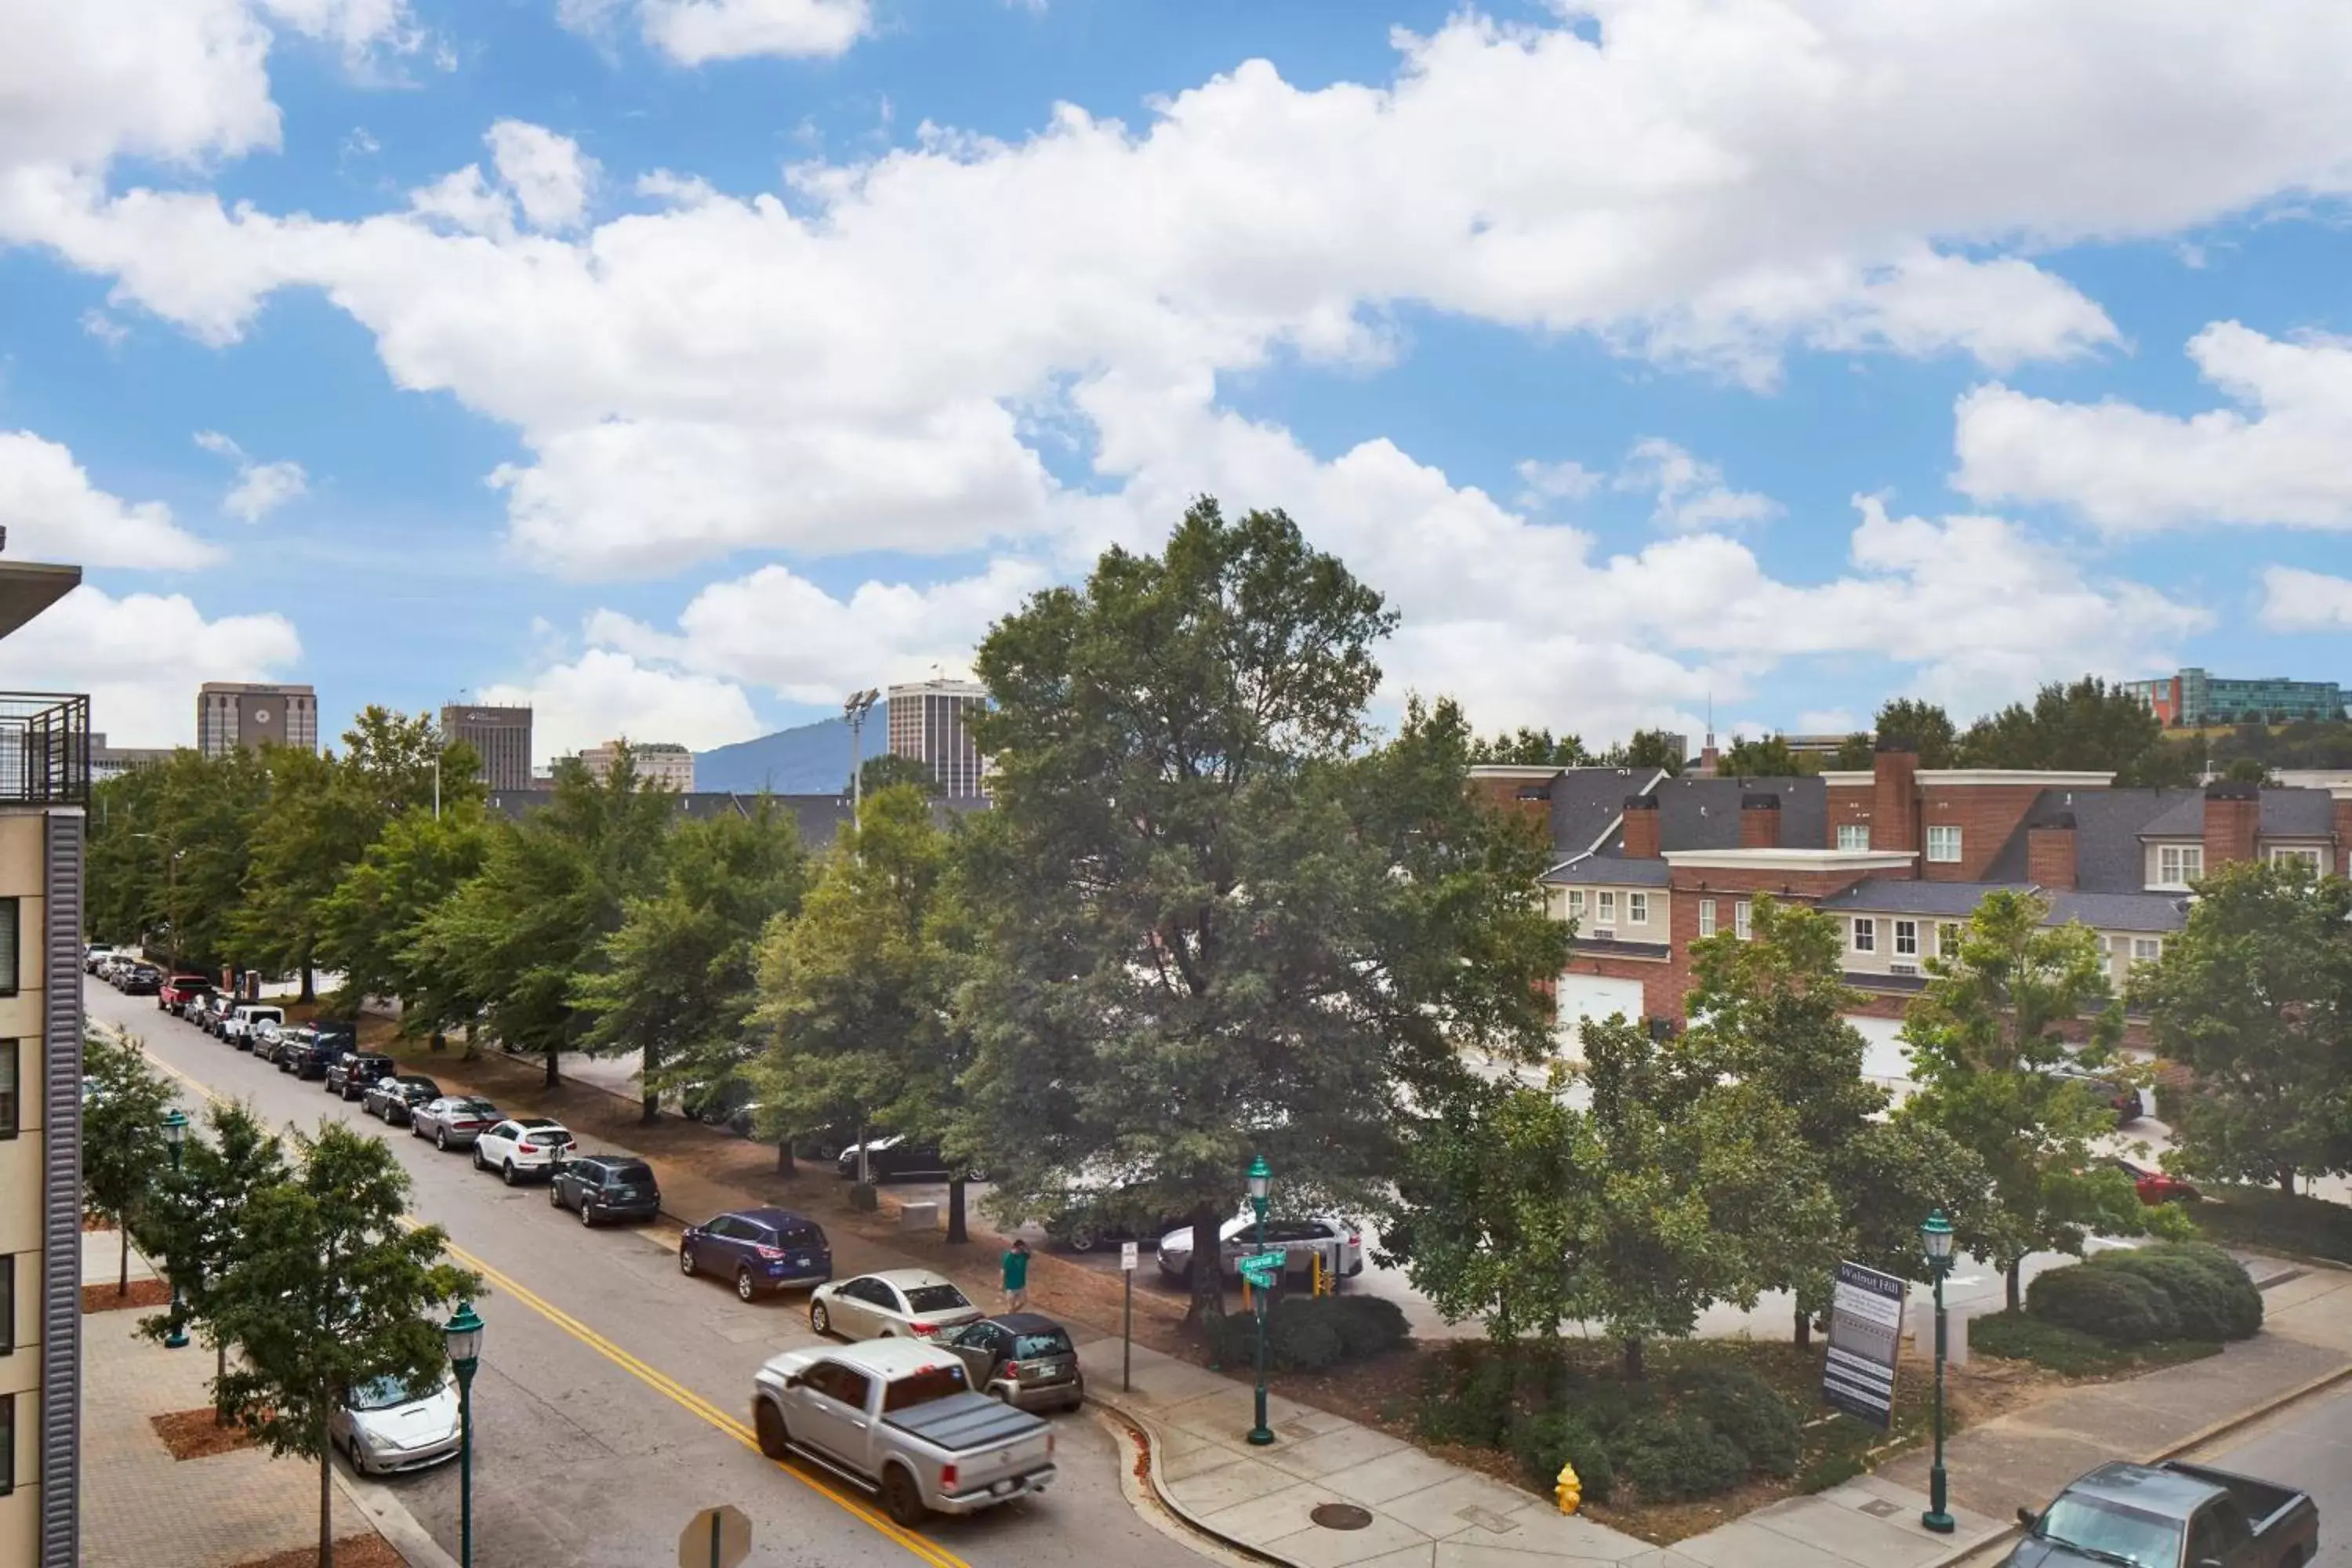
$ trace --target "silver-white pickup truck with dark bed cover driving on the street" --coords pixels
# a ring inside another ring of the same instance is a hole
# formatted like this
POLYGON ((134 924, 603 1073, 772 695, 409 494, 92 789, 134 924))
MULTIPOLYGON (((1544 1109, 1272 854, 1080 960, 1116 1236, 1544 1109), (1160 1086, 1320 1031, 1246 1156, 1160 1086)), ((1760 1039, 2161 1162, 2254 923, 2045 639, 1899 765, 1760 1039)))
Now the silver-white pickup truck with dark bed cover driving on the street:
POLYGON ((971 1392, 964 1363, 922 1340, 788 1349, 753 1380, 760 1453, 802 1453, 882 1497, 901 1526, 1042 1493, 1054 1429, 971 1392))

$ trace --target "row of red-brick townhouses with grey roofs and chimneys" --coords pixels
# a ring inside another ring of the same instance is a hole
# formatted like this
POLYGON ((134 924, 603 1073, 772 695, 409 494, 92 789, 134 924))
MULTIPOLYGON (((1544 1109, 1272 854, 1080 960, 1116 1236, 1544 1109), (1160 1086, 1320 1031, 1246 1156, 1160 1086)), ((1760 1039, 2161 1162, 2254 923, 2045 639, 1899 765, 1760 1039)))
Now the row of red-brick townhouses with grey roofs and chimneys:
POLYGON ((1893 1032, 1922 961, 1994 889, 2051 900, 2107 945, 2114 978, 2164 952, 2190 882, 2227 860, 2352 865, 2352 788, 2216 783, 2119 790, 2112 773, 1922 769, 1900 743, 1867 773, 1672 778, 1656 769, 1482 766, 1475 788, 1545 820, 1557 863, 1550 907, 1576 922, 1559 976, 1562 1044, 1573 1023, 1625 1013, 1679 1023, 1700 936, 1745 936, 1771 893, 1835 914, 1856 1027, 1872 1077, 1900 1079, 1893 1032))

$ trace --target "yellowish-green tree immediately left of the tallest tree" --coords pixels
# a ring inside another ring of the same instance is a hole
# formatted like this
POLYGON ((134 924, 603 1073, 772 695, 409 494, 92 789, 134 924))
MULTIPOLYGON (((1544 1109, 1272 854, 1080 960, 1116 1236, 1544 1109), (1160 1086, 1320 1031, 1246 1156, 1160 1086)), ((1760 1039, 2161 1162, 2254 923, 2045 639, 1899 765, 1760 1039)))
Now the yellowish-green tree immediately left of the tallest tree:
MULTIPOLYGON (((774 922, 760 943, 762 1053, 750 1079, 762 1131, 790 1140, 847 1124, 863 1147, 887 1126, 957 1152, 971 1063, 955 1009, 967 952, 950 839, 922 790, 891 785, 823 860, 800 917, 774 922)), ((967 1166, 950 1166, 950 1239, 962 1239, 967 1166)))

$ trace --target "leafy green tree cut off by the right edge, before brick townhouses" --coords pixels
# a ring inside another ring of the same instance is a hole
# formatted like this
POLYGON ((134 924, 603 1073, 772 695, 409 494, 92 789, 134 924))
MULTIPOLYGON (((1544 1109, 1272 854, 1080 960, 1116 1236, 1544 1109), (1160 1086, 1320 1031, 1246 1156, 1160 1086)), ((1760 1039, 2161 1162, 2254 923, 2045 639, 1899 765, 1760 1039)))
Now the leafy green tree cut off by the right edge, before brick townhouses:
POLYGON ((2197 884, 2187 929, 2133 976, 2192 1173, 2277 1182, 2352 1171, 2352 884, 2241 860, 2197 884))

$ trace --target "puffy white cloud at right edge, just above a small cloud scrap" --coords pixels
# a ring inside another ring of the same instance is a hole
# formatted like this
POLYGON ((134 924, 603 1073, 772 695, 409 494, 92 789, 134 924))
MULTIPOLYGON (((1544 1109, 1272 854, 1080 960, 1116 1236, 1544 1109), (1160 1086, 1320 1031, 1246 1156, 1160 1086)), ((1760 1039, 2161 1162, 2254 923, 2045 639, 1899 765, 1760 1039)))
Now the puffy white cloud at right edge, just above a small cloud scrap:
POLYGON ((2176 416, 2006 386, 1959 400, 1955 484, 2065 505, 2112 534, 2190 524, 2352 529, 2352 341, 2216 322, 2190 360, 2232 404, 2176 416))

